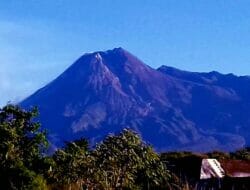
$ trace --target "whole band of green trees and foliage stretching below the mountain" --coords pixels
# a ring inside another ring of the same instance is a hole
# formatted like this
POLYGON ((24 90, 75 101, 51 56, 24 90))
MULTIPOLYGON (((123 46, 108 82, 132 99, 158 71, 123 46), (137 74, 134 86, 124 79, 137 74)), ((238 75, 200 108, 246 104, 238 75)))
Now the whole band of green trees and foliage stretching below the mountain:
POLYGON ((250 160, 250 148, 232 153, 158 154, 129 129, 107 136, 94 149, 86 139, 66 142, 48 155, 47 132, 34 120, 38 110, 0 109, 1 189, 191 189, 176 173, 185 157, 250 160))

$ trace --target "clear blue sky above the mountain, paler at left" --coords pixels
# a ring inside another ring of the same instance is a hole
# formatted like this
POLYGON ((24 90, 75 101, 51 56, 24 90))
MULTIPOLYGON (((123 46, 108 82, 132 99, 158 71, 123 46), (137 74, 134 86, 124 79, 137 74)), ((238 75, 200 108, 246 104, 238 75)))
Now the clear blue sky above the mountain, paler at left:
POLYGON ((250 75, 249 0, 1 0, 0 106, 84 52, 123 47, 153 68, 250 75))

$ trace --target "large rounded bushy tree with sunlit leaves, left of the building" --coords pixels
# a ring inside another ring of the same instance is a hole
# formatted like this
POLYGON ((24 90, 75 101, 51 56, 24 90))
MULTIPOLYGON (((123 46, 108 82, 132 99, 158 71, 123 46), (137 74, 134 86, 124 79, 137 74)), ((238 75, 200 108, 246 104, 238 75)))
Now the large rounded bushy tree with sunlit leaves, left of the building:
POLYGON ((108 136, 93 152, 96 177, 103 189, 140 189, 159 186, 167 170, 159 156, 133 131, 108 136))

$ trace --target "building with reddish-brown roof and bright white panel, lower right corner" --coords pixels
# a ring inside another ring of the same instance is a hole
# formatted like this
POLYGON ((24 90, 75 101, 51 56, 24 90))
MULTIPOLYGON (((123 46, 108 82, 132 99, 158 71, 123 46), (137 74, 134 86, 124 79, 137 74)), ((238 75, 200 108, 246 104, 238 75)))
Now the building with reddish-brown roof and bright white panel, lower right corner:
POLYGON ((202 159, 197 190, 249 190, 250 161, 202 159))

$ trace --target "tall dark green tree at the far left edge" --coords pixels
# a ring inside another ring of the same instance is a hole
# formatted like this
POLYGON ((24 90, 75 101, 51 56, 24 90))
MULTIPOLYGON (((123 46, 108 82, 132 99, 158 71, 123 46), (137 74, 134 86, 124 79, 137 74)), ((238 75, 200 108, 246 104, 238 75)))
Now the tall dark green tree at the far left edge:
POLYGON ((46 132, 33 119, 38 111, 7 105, 0 109, 0 182, 4 189, 42 189, 36 163, 48 145, 46 132))

